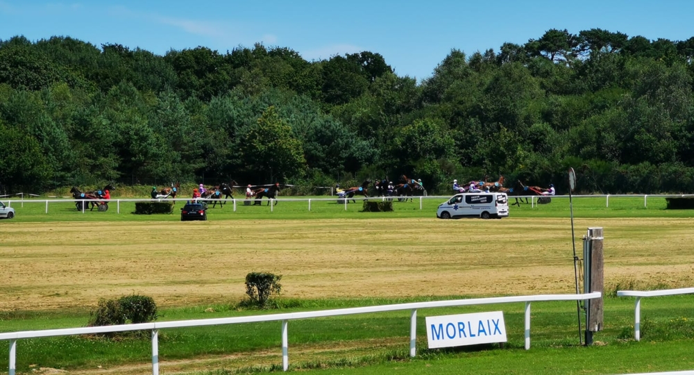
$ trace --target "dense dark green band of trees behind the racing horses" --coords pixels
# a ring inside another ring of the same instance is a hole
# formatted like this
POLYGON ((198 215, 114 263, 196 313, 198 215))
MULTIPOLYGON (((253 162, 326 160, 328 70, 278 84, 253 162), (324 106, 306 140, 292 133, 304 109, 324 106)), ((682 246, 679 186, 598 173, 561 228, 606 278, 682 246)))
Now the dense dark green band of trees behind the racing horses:
POLYGON ((552 29, 398 76, 362 51, 0 40, 0 185, 453 178, 692 192, 694 38, 552 29))

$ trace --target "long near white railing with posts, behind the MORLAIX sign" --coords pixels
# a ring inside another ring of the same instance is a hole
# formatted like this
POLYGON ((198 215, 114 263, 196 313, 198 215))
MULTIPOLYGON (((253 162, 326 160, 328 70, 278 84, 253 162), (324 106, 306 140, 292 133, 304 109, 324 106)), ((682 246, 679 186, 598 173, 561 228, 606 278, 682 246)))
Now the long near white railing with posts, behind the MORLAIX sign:
POLYGON ((289 345, 287 326, 289 320, 311 319, 317 317, 335 317, 339 315, 355 315, 369 313, 384 313, 387 311, 410 310, 409 355, 416 355, 417 310, 422 308, 441 308, 454 306, 489 305, 494 303, 525 302, 525 349, 530 349, 530 303, 540 301, 576 301, 582 299, 597 299, 602 297, 600 292, 587 294, 539 294, 534 296, 492 297, 478 299, 455 299, 450 301, 430 301, 400 303, 394 305, 368 306, 361 308, 341 308, 337 310, 307 311, 303 313, 285 313, 272 315, 254 315, 249 317, 228 317, 219 319, 181 320, 177 322, 156 322, 144 324, 126 324, 120 326, 100 326, 83 328, 49 329, 44 331, 22 331, 0 333, 0 340, 10 342, 9 374, 15 375, 17 369, 17 340, 28 338, 48 338, 66 335, 88 335, 94 333, 110 333, 124 331, 152 331, 152 374, 159 374, 159 344, 158 333, 164 328, 185 328, 198 326, 216 326, 222 324, 241 324, 258 322, 282 322, 282 368, 289 369, 289 345))

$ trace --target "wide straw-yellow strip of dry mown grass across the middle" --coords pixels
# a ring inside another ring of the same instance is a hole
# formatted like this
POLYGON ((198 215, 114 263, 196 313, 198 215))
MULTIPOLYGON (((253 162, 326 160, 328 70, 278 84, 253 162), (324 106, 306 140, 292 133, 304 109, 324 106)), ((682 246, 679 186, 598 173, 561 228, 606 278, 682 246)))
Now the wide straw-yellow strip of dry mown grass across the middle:
MULTIPOLYGON (((577 219, 605 231, 607 282, 691 286, 693 219, 577 219)), ((299 299, 572 292, 570 222, 306 219, 3 223, 0 310, 234 303, 248 272, 282 274, 299 299)))

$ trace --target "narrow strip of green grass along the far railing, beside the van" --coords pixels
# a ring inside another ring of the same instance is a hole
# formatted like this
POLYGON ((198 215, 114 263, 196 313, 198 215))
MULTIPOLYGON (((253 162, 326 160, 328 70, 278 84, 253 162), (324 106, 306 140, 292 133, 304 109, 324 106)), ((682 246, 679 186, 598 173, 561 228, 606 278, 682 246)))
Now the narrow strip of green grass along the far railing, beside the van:
MULTIPOLYGON (((347 210, 344 204, 338 204, 337 198, 330 201, 312 201, 308 210, 307 201, 291 201, 291 199, 326 199, 328 197, 280 197, 278 204, 271 210, 266 206, 244 206, 237 201, 234 212, 232 204, 224 208, 208 210, 208 220, 219 219, 373 219, 374 217, 435 217, 437 206, 445 198, 429 198, 422 200, 420 209, 419 199, 414 202, 393 202, 394 211, 391 213, 361 213, 362 202, 349 203, 347 210)), ((509 203, 513 203, 511 197, 509 203)), ((573 213, 577 218, 614 218, 614 217, 694 217, 694 210, 666 210, 665 198, 652 197, 648 199, 648 207, 643 206, 643 197, 611 197, 607 207, 604 197, 579 197, 573 199, 573 213)), ((171 215, 133 215, 135 203, 121 202, 120 213, 117 212, 117 197, 109 203, 109 210, 99 213, 96 210, 85 213, 76 210, 74 202, 49 203, 46 214, 45 200, 31 199, 24 203, 14 199, 12 207, 17 210, 16 222, 89 222, 99 221, 178 221, 183 202, 178 202, 171 215), (22 207, 22 205, 24 207, 22 207)), ((521 204, 511 206, 511 217, 570 217, 568 198, 552 198, 552 203, 536 205, 521 204)))

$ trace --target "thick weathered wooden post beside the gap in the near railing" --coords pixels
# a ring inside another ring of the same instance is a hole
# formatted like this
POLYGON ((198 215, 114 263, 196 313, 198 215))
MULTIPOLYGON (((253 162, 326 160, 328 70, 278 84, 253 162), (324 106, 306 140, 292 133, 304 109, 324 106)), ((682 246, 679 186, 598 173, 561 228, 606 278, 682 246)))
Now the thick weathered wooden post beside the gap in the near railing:
MULTIPOLYGON (((589 280, 587 286, 589 290, 584 292, 603 292, 604 289, 604 260, 603 260, 603 235, 602 228, 588 228, 590 258, 589 264, 589 280)), ((584 273, 586 274, 586 273, 584 273)), ((593 332, 602 331, 603 326, 603 297, 600 299, 589 300, 586 317, 586 345, 593 343, 593 332)))

